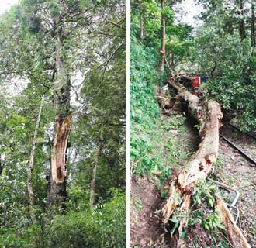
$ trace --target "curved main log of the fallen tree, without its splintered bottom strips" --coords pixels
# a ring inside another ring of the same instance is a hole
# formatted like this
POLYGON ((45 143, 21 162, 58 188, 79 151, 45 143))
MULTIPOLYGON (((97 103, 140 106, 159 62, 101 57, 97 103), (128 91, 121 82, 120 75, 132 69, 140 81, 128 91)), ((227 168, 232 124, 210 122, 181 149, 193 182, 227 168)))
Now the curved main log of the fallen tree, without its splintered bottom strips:
POLYGON ((169 84, 178 91, 179 97, 188 103, 192 117, 199 121, 199 135, 202 142, 199 144, 199 150, 195 153, 194 158, 189 161, 171 184, 168 200, 162 208, 164 223, 168 222, 175 206, 179 203, 175 196, 177 192, 179 196, 184 194, 183 198, 185 198, 185 195, 191 194, 193 183, 200 178, 206 178, 211 171, 218 154, 219 127, 223 117, 220 105, 216 101, 209 100, 202 104, 197 96, 185 91, 174 81, 170 81, 169 84))

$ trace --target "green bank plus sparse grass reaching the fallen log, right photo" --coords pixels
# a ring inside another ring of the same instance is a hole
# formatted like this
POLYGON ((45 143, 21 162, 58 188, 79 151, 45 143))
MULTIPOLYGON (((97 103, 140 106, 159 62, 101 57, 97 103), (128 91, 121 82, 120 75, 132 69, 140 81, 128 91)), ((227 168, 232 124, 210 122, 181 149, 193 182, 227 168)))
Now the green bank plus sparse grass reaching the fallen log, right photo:
POLYGON ((171 167, 180 167, 179 160, 187 155, 179 149, 181 144, 174 146, 168 136, 171 129, 179 129, 184 124, 185 116, 177 114, 161 120, 154 92, 160 80, 157 53, 133 37, 130 54, 131 172, 157 174, 162 183, 169 177, 171 167))

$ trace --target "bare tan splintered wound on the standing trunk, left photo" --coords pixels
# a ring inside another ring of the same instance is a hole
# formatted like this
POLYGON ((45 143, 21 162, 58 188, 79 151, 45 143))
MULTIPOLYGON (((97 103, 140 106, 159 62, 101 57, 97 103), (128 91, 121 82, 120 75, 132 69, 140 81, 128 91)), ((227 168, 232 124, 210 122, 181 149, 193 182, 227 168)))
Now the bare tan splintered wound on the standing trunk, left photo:
POLYGON ((70 130, 71 115, 68 115, 61 122, 57 121, 51 157, 51 175, 52 180, 55 181, 56 184, 62 184, 65 179, 65 154, 70 130))

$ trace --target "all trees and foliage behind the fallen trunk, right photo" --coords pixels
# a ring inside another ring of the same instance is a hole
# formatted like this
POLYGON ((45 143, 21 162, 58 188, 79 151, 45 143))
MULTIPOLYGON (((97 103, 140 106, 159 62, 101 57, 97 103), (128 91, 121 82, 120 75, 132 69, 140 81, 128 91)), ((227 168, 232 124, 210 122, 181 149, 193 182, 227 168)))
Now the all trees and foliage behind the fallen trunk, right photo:
POLYGON ((204 88, 209 98, 220 102, 224 120, 235 119, 240 129, 254 130, 254 1, 196 0, 198 26, 178 19, 178 15, 186 15, 183 2, 133 1, 131 35, 158 53, 158 71, 165 75, 162 84, 170 74, 208 76, 204 88))

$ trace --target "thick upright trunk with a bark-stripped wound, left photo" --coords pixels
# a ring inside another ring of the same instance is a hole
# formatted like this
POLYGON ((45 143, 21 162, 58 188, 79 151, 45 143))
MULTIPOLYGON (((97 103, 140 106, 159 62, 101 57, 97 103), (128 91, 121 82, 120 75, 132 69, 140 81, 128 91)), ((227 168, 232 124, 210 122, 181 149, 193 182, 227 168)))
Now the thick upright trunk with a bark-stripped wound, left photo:
POLYGON ((71 131, 70 91, 71 81, 67 73, 66 63, 62 54, 63 33, 61 27, 57 29, 56 39, 56 93, 57 113, 55 117, 55 132, 51 147, 50 181, 47 194, 49 206, 65 208, 66 191, 66 150, 71 131))

